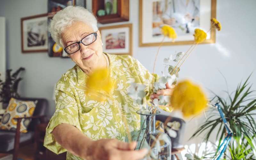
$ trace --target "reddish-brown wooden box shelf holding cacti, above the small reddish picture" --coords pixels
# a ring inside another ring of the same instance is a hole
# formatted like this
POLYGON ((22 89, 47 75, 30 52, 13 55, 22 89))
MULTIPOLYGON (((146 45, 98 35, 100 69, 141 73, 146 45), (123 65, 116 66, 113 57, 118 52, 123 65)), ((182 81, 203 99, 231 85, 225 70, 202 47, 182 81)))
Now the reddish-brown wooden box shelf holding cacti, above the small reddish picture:
MULTIPOLYGON (((92 11, 94 15, 97 16, 99 9, 104 9, 105 1, 93 0, 92 1, 92 11)), ((98 22, 101 24, 115 23, 122 21, 129 21, 129 0, 117 0, 117 13, 105 16, 97 16, 98 22)))

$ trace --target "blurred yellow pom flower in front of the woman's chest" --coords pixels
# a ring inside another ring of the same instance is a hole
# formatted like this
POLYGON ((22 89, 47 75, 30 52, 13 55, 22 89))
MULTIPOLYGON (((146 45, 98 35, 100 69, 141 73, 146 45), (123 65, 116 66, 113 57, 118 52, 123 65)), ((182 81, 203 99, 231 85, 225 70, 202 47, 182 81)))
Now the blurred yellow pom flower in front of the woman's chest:
POLYGON ((98 100, 102 100, 100 92, 110 94, 113 88, 113 82, 108 75, 107 68, 95 69, 87 78, 85 85, 87 87, 86 94, 92 95, 92 98, 99 97, 98 100))

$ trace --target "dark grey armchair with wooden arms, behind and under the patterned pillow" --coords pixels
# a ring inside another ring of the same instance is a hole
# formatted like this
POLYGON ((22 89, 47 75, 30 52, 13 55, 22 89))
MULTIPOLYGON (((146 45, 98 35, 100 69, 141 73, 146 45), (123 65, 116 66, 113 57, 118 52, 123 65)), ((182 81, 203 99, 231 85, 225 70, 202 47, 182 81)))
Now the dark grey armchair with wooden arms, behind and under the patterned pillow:
POLYGON ((15 118, 17 120, 16 132, 0 130, 0 153, 12 153, 12 159, 17 160, 19 147, 33 144, 35 126, 44 123, 44 114, 48 101, 42 98, 19 98, 19 100, 38 100, 33 116, 15 118), (27 133, 20 133, 20 122, 23 118, 31 118, 27 133))

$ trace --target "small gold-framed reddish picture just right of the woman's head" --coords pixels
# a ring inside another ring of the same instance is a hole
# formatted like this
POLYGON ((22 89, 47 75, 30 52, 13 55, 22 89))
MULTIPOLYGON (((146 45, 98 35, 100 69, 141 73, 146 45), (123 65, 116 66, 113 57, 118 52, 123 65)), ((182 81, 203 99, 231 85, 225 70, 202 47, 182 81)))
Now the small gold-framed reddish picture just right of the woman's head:
POLYGON ((103 52, 132 55, 132 24, 100 27, 103 52))

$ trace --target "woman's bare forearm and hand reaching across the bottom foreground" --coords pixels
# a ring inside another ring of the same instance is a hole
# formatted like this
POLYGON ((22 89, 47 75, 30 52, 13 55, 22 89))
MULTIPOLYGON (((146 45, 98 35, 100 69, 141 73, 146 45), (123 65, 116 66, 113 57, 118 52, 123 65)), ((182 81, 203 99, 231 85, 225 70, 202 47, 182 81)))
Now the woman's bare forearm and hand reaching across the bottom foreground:
POLYGON ((52 131, 55 140, 70 153, 86 160, 142 159, 147 149, 135 151, 136 142, 125 143, 116 139, 91 140, 70 124, 59 124, 52 131))

